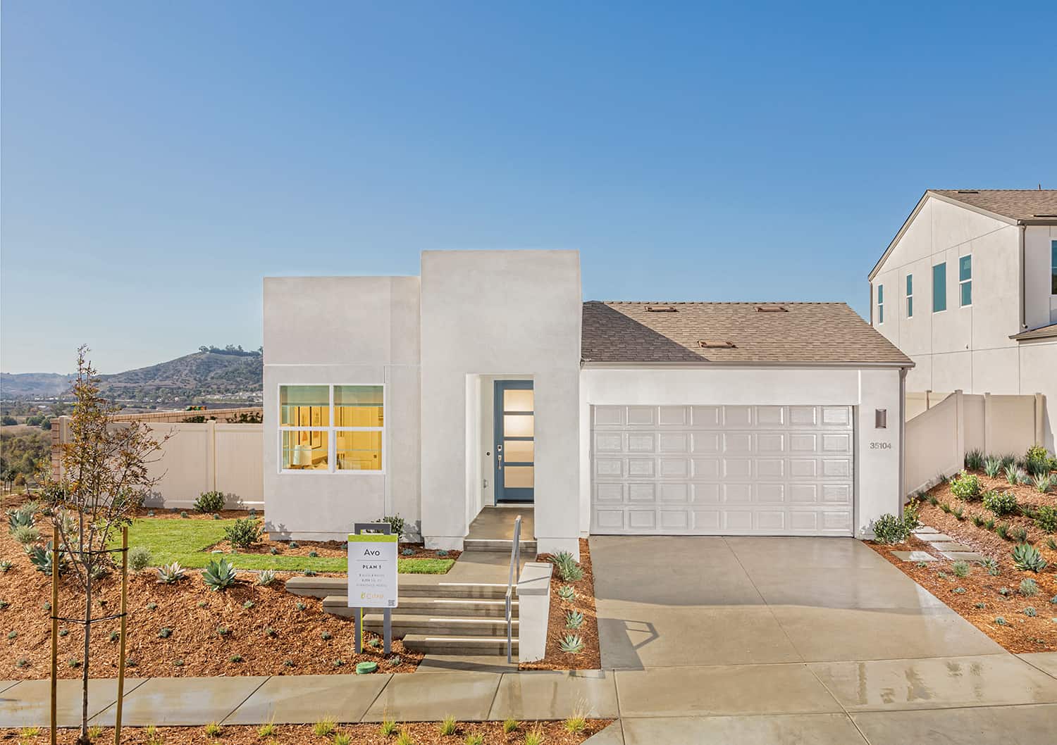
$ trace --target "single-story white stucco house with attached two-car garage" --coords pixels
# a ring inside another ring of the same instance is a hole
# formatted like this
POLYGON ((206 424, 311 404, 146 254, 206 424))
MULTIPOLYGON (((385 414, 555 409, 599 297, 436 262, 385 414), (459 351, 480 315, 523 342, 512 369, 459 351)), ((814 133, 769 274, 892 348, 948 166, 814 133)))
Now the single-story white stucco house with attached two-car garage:
POLYGON ((589 534, 857 536, 897 513, 913 362, 843 303, 583 302, 572 250, 264 280, 267 529, 400 513, 459 548, 534 505, 589 534))

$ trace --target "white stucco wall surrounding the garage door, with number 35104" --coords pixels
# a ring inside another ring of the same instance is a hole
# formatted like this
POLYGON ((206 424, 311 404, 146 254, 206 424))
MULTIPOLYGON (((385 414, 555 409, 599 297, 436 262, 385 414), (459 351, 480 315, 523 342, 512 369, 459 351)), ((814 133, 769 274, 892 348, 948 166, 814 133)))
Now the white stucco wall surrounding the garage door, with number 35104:
POLYGON ((579 527, 591 524, 591 416, 602 405, 846 405, 858 407, 856 421, 856 530, 898 514, 900 373, 897 369, 586 368, 580 375, 579 527), (874 429, 874 409, 888 410, 887 429, 874 429), (870 443, 890 448, 871 448, 870 443))

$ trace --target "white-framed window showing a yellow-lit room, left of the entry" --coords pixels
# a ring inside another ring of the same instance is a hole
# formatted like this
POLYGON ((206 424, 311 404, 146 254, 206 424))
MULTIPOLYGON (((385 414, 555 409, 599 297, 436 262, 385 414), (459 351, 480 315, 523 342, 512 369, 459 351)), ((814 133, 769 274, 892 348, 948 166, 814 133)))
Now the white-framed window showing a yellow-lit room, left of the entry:
POLYGON ((279 386, 279 470, 385 471, 385 386, 279 386))

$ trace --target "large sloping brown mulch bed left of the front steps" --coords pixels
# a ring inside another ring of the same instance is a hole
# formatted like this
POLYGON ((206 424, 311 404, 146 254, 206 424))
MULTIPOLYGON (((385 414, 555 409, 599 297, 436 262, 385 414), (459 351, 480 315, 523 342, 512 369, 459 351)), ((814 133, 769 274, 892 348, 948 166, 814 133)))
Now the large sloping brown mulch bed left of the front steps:
MULTIPOLYGON (((51 612, 45 603, 51 600, 51 578, 33 567, 5 529, 0 530, 0 557, 13 562, 11 570, 0 574, 0 600, 10 603, 0 610, 0 677, 48 677, 51 612)), ((130 576, 127 654, 134 666, 128 668, 128 675, 348 673, 365 660, 378 663, 382 672, 412 672, 422 660, 421 654, 406 650, 400 640, 393 641, 393 654, 388 658, 381 645, 377 650, 365 647, 363 654, 355 654, 351 618, 323 613, 317 598, 288 594, 283 579, 262 588, 253 583, 256 577, 255 573, 240 573, 238 585, 212 592, 196 571, 177 584, 159 584, 152 571, 130 576), (298 610, 298 603, 303 610, 298 610), (167 638, 159 636, 163 628, 171 629, 167 638), (220 633, 221 628, 228 632, 220 633), (323 638, 324 632, 330 638, 323 638), (337 665, 339 659, 341 666, 337 665)), ((72 578, 62 580, 59 615, 84 613, 84 595, 75 588, 72 578)), ((98 604, 93 614, 116 613, 119 576, 112 573, 94 588, 98 604)), ((78 623, 60 625, 66 631, 66 635, 60 631, 58 639, 60 677, 80 676, 80 668, 73 667, 71 660, 82 664, 82 629, 78 623)), ((110 640, 117 629, 116 619, 93 625, 93 677, 117 675, 118 645, 110 640)), ((375 635, 368 633, 367 639, 372 638, 375 635)))

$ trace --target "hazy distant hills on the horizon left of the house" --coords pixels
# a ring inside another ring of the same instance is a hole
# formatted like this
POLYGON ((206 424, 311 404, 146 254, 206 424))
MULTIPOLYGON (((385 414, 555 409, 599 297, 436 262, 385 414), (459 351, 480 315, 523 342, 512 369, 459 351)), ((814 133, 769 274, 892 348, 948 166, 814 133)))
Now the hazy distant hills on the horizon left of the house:
MULTIPOLYGON (((0 373, 5 398, 57 396, 70 390, 75 375, 0 373)), ((263 356, 216 348, 167 362, 99 376, 99 389, 110 398, 152 402, 191 401, 201 396, 260 392, 263 356)))

